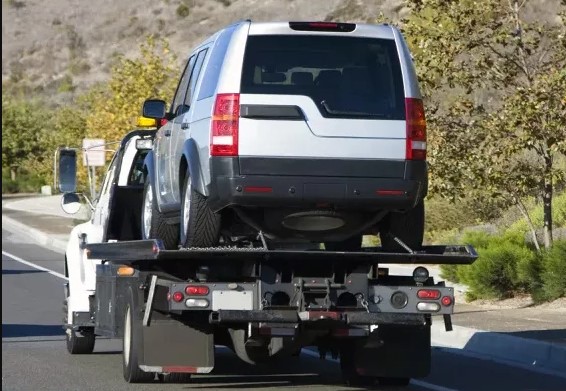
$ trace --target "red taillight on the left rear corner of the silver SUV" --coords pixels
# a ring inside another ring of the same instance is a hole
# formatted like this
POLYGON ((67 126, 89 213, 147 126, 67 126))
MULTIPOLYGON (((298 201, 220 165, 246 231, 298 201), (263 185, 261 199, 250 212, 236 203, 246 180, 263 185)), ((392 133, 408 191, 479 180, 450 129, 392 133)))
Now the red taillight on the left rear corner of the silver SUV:
POLYGON ((211 156, 238 156, 240 94, 218 94, 212 112, 211 156))

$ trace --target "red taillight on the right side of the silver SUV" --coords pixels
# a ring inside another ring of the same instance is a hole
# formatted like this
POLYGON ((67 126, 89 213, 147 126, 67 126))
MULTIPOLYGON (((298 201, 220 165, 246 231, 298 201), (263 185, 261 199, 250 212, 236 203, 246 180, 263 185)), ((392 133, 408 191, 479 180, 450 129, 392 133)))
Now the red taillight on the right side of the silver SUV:
POLYGON ((405 98, 407 160, 426 159, 426 120, 423 101, 405 98))

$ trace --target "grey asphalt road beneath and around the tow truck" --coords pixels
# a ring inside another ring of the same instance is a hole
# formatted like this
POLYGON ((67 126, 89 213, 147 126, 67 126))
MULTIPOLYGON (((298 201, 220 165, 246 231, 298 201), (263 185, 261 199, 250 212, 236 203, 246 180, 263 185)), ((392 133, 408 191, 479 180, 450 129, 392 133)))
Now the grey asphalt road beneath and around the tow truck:
MULTIPOLYGON (((120 341, 98 339, 91 355, 67 353, 61 328, 62 260, 62 254, 2 230, 2 390, 357 389, 341 383, 336 362, 314 354, 252 367, 223 348, 217 350, 214 372, 195 376, 191 383, 127 384, 120 341)), ((431 375, 403 389, 566 391, 566 380, 435 349, 431 375)))

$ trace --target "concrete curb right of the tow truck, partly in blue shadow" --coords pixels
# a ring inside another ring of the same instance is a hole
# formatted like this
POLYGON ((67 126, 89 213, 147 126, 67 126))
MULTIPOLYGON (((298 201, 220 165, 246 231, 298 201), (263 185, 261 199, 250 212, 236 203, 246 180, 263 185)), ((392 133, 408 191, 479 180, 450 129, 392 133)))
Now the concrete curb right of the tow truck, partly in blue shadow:
MULTIPOLYGON (((460 350, 462 354, 545 372, 566 379, 566 345, 516 337, 506 333, 454 326, 445 331, 437 320, 431 330, 434 346, 460 350)), ((456 352, 458 353, 458 352, 456 352)))

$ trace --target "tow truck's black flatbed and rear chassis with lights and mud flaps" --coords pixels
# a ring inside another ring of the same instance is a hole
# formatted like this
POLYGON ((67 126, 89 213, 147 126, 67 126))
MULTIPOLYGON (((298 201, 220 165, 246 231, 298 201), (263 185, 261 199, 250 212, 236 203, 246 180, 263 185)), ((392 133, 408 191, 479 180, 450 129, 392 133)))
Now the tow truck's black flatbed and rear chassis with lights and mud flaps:
POLYGON ((318 348, 340 357, 348 384, 405 385, 431 365, 430 326, 452 329, 454 290, 434 282, 426 264, 471 264, 471 246, 425 246, 385 253, 191 248, 159 240, 86 245, 96 266, 90 313, 75 330, 124 341, 128 382, 188 380, 214 368, 225 345, 249 363, 318 348), (390 275, 380 264, 414 264, 390 275))

